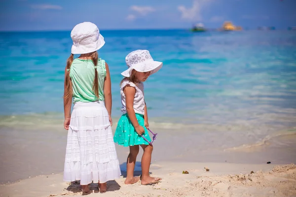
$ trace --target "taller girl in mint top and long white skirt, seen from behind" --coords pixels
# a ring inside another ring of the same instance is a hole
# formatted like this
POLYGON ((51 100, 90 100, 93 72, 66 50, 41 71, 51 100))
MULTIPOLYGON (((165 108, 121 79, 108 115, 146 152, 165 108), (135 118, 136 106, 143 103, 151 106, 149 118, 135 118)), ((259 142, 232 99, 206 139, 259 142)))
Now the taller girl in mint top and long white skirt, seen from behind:
POLYGON ((97 52, 105 41, 90 22, 76 25, 71 37, 64 86, 64 128, 68 130, 64 181, 80 180, 85 193, 93 181, 100 192, 106 192, 106 182, 121 173, 111 131, 110 72, 97 52), (74 54, 80 56, 74 59, 74 54))

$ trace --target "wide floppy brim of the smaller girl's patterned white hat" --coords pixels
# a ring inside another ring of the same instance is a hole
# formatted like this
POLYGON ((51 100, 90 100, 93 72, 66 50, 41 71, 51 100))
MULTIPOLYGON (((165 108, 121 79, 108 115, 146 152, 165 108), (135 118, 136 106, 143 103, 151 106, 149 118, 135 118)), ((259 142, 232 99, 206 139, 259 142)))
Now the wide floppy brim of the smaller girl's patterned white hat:
POLYGON ((121 75, 125 77, 130 77, 132 74, 132 70, 135 69, 138 72, 151 72, 151 74, 154 74, 162 67, 162 62, 152 61, 152 62, 141 62, 135 65, 132 65, 127 70, 123 71, 121 75))

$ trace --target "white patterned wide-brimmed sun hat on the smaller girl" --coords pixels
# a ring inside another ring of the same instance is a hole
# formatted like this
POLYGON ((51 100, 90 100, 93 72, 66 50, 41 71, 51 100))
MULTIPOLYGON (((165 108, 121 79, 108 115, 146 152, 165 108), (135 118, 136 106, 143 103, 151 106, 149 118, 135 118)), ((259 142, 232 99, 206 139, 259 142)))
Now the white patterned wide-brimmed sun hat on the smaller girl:
POLYGON ((121 74, 125 77, 130 77, 132 70, 138 72, 151 72, 153 74, 162 67, 162 62, 154 61, 148 50, 136 50, 129 53, 125 57, 126 65, 129 67, 121 74))

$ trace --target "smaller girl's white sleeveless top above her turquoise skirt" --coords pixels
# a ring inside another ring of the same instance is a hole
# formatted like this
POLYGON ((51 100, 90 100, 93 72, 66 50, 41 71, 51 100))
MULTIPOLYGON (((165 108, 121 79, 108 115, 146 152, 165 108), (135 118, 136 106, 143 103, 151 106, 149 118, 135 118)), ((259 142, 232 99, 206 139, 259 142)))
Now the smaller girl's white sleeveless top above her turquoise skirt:
POLYGON ((120 86, 120 95, 121 95, 121 104, 122 104, 121 112, 123 114, 127 113, 125 95, 123 92, 123 88, 126 87, 126 85, 130 85, 131 87, 136 88, 136 94, 134 98, 134 110, 135 110, 135 113, 144 115, 145 114, 144 84, 143 83, 134 84, 128 80, 123 81, 120 86))

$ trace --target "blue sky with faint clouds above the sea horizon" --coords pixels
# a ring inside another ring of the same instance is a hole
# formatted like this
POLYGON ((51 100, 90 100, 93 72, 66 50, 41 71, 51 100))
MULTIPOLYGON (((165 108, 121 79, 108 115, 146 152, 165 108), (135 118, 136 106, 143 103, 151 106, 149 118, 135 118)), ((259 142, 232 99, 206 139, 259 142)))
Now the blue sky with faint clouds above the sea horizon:
POLYGON ((203 22, 255 29, 296 26, 296 0, 0 0, 0 31, 71 30, 90 21, 100 29, 179 29, 203 22))

